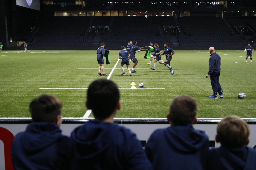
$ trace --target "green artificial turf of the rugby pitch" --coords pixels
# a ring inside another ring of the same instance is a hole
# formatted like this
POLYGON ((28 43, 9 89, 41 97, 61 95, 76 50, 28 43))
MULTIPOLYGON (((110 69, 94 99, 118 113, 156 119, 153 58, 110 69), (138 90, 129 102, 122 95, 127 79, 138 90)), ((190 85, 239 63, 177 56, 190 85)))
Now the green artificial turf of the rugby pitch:
MULTIPOLYGON (((121 109, 116 117, 164 118, 173 98, 188 94, 198 102, 199 118, 227 115, 256 118, 256 60, 251 63, 249 58, 249 64, 246 64, 243 51, 217 50, 221 57, 220 84, 224 97, 210 99, 208 96, 213 93, 210 78, 205 78, 209 67, 208 51, 178 51, 175 48, 174 51, 171 61, 173 76, 163 64, 157 63, 156 70, 151 70, 154 64, 146 64, 149 60, 143 58, 144 52, 137 52, 137 73, 132 73, 132 76, 129 76, 126 66, 126 74, 121 76, 121 61, 118 62, 110 80, 119 88, 130 88, 131 82, 135 82, 138 89, 120 89, 121 109), (143 89, 138 86, 140 82, 144 83, 143 89), (238 93, 245 93, 246 98, 239 99, 238 93)), ((118 60, 118 52, 111 50, 111 64, 105 65, 108 75, 118 60)), ((131 67, 132 64, 130 62, 131 67)), ((92 81, 108 77, 98 75, 98 66, 96 50, 1 52, 0 117, 30 117, 30 101, 44 93, 55 95, 62 101, 63 117, 83 117, 87 110, 84 106, 86 89, 40 88, 88 88, 92 81)), ((98 102, 102 111, 104 100, 98 102)))

